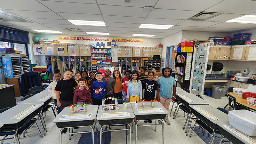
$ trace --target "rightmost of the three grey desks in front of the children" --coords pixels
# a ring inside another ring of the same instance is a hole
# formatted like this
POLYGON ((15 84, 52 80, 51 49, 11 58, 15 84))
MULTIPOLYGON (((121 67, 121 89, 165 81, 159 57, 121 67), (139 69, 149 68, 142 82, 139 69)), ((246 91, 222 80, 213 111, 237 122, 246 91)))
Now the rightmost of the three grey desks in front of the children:
MULTIPOLYGON (((152 126, 152 125, 162 125, 162 137, 163 137, 163 143, 164 143, 164 122, 162 119, 165 118, 166 114, 168 114, 168 111, 164 108, 164 106, 156 101, 154 102, 154 108, 151 108, 151 102, 144 102, 144 108, 142 108, 142 102, 138 103, 138 109, 133 108, 134 103, 132 105, 133 113, 137 119, 137 122, 135 123, 136 129, 135 129, 135 144, 137 143, 137 131, 138 126, 152 126), (160 120, 162 124, 147 124, 147 125, 138 125, 139 121, 144 120, 160 120)), ((156 131, 156 128, 155 128, 156 131)))

